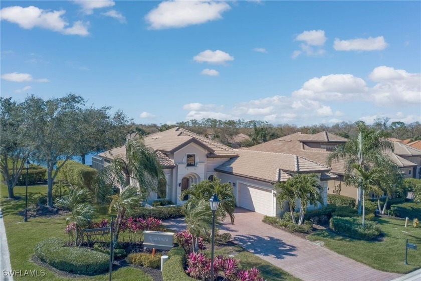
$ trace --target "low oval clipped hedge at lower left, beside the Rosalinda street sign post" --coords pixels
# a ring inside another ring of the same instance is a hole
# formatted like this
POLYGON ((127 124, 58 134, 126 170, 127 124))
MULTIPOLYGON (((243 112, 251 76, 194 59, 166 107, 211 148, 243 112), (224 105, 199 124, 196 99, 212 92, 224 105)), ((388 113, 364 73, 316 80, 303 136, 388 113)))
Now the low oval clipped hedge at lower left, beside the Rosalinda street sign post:
POLYGON ((60 238, 49 238, 37 244, 35 254, 57 269, 93 275, 109 268, 110 256, 86 248, 67 247, 60 238))

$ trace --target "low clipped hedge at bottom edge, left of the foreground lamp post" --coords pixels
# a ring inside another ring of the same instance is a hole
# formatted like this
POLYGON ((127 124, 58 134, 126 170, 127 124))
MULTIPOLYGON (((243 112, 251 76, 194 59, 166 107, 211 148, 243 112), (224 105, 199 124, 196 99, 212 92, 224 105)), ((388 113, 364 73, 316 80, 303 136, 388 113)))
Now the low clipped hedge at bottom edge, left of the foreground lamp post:
POLYGON ((183 248, 172 248, 168 252, 169 259, 162 267, 163 281, 194 281, 195 279, 187 276, 184 271, 186 261, 185 251, 183 248))

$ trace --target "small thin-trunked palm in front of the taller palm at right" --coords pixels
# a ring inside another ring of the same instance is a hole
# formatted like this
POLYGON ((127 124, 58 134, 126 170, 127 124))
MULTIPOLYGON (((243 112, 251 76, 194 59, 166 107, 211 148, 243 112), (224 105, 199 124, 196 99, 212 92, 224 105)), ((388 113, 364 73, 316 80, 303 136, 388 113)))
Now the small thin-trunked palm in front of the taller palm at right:
POLYGON ((380 185, 384 181, 384 171, 380 168, 365 168, 360 164, 352 164, 352 172, 345 176, 345 184, 359 187, 362 190, 362 226, 365 219, 365 196, 373 192, 381 192, 380 185))

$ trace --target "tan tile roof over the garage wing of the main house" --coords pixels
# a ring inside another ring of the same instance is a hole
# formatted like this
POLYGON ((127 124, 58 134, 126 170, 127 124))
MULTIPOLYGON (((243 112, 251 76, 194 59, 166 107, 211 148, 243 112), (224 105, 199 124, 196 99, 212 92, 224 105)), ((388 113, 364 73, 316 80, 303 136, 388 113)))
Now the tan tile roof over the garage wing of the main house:
POLYGON ((330 168, 306 158, 283 153, 272 153, 252 150, 234 150, 235 157, 217 167, 215 170, 264 180, 268 182, 285 181, 295 173, 323 173, 330 168))

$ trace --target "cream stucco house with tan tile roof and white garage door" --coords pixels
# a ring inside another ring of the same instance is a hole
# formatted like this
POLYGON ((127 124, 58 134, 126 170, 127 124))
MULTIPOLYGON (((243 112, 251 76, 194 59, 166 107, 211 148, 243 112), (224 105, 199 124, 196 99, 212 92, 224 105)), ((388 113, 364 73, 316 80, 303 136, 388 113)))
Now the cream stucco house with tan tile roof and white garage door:
MULTIPOLYGON (((233 150, 179 127, 147 135, 144 142, 157 153, 167 180, 160 198, 153 193, 148 198, 149 203, 155 199, 168 199, 183 204, 187 199, 180 198, 183 190, 204 179, 218 177, 232 185, 237 206, 275 216, 285 211, 276 202, 275 183, 286 181, 297 173, 315 173, 320 177, 326 203, 327 180, 336 177, 329 173, 331 168, 305 157, 233 150)), ((115 148, 93 157, 92 167, 100 170, 115 157, 125 157, 125 148, 115 148)), ((309 206, 309 209, 314 207, 309 206)))

